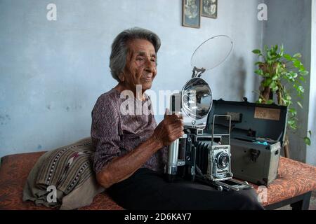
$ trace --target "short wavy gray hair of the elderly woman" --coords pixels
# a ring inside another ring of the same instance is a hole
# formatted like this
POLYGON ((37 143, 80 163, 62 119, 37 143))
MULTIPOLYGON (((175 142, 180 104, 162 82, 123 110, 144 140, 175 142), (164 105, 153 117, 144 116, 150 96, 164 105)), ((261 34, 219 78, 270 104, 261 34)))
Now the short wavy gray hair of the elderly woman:
POLYGON ((118 82, 119 74, 123 71, 126 65, 126 57, 128 52, 127 43, 135 39, 144 39, 150 41, 154 45, 154 50, 156 53, 160 48, 160 38, 157 34, 147 29, 141 29, 138 27, 132 29, 126 29, 122 31, 114 39, 112 43, 112 51, 110 55, 110 69, 111 74, 114 79, 118 82))

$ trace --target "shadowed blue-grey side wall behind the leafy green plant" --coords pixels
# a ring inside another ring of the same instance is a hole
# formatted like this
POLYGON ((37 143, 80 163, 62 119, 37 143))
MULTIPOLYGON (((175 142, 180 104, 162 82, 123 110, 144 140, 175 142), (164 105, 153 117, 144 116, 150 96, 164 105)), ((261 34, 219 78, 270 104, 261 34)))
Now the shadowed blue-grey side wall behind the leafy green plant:
MULTIPOLYGON (((266 0, 265 3, 268 6, 268 21, 263 28, 263 44, 270 46, 283 43, 285 51, 290 55, 301 52, 302 62, 310 71, 311 0, 266 0)), ((306 161, 306 145, 303 137, 308 131, 309 77, 304 87, 304 109, 296 105, 300 127, 295 134, 292 132, 289 134, 291 158, 301 162, 306 161)))

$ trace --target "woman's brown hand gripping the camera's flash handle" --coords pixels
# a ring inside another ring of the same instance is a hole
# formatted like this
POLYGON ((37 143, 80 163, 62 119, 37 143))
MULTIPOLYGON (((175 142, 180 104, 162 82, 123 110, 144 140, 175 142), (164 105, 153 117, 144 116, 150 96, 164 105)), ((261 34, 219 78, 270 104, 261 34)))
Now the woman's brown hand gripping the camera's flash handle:
POLYGON ((162 146, 169 146, 173 141, 179 139, 185 134, 183 132, 183 116, 168 115, 169 111, 166 109, 164 120, 156 127, 152 137, 156 139, 162 146))

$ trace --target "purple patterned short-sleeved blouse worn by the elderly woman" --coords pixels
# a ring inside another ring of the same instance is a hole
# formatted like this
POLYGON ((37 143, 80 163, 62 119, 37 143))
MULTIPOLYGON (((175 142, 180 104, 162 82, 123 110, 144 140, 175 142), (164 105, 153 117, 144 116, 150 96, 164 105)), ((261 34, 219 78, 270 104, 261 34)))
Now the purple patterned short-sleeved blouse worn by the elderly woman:
MULTIPOLYGON (((93 155, 93 169, 100 172, 113 158, 132 151, 140 143, 152 136, 157 126, 151 106, 142 106, 143 114, 130 115, 120 112, 121 104, 127 99, 121 99, 119 91, 112 89, 102 94, 91 113, 91 139, 96 149, 93 155)), ((138 99, 133 99, 136 103, 138 99)), ((150 98, 145 95, 145 101, 138 103, 151 105, 150 98)), ((126 104, 123 104, 126 105, 126 104)), ((128 106, 126 107, 128 109, 128 106)), ((135 106, 136 108, 136 106, 135 106)), ((138 107, 140 108, 140 107, 138 107)), ((167 148, 154 153, 142 168, 164 172, 167 161, 167 148)))

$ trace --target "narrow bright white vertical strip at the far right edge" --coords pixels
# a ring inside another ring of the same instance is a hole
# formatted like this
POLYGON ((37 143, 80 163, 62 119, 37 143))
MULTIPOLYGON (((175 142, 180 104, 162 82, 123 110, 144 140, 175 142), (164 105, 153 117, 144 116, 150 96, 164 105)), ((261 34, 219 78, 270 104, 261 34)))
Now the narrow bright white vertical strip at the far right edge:
POLYGON ((307 147, 306 162, 316 166, 316 1, 312 1, 312 43, 310 65, 310 106, 308 130, 312 131, 312 144, 307 147))

